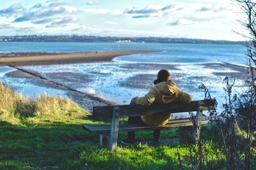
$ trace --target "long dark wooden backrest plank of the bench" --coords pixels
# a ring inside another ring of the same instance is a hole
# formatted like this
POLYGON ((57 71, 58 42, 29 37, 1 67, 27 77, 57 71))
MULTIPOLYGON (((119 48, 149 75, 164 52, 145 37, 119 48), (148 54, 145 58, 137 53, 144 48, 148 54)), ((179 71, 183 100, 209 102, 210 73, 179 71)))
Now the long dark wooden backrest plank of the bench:
POLYGON ((198 104, 204 104, 203 110, 208 111, 214 108, 215 100, 196 100, 189 104, 182 104, 180 102, 173 102, 171 104, 153 104, 147 107, 141 105, 95 106, 93 107, 93 118, 98 120, 112 118, 114 107, 118 107, 120 117, 126 117, 150 114, 193 112, 197 111, 198 104))

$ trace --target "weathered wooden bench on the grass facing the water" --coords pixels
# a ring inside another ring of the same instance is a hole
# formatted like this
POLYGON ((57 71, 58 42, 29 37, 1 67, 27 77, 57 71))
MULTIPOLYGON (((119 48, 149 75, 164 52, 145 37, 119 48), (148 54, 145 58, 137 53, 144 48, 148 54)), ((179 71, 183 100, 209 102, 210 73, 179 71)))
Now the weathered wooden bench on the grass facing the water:
MULTIPOLYGON (((112 123, 104 125, 83 125, 82 127, 88 132, 100 134, 100 145, 107 146, 106 143, 108 143, 108 148, 110 150, 115 150, 117 146, 118 132, 124 131, 155 130, 178 127, 180 131, 184 132, 184 130, 188 130, 188 127, 190 127, 190 129, 193 130, 193 132, 191 132, 191 136, 196 141, 200 137, 201 125, 209 123, 209 120, 203 119, 202 113, 203 111, 214 109, 214 104, 215 100, 198 100, 189 104, 173 102, 171 104, 154 104, 148 107, 143 107, 141 105, 95 106, 93 107, 93 120, 106 120, 111 118, 112 123), (193 111, 196 111, 194 121, 189 118, 170 120, 168 124, 164 126, 119 123, 120 117, 193 111)), ((180 133, 181 135, 183 134, 182 132, 180 133)))

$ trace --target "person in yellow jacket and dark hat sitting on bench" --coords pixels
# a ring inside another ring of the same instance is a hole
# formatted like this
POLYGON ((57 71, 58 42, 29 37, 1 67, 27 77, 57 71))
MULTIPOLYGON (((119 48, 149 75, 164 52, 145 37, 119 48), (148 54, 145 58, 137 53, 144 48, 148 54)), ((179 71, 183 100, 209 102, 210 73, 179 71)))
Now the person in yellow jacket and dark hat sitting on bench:
MULTIPOLYGON (((143 106, 152 105, 153 103, 170 104, 172 102, 189 103, 192 101, 191 95, 177 88, 176 84, 171 81, 171 74, 167 70, 160 70, 157 73, 157 79, 154 81, 150 91, 144 97, 134 97, 131 100, 132 104, 143 106)), ((166 125, 170 118, 168 114, 153 114, 148 116, 129 117, 128 123, 139 123, 145 125, 166 125)), ((159 143, 160 129, 154 130, 154 144, 159 143)), ((128 132, 127 139, 122 141, 123 144, 133 144, 135 142, 135 132, 128 132)))

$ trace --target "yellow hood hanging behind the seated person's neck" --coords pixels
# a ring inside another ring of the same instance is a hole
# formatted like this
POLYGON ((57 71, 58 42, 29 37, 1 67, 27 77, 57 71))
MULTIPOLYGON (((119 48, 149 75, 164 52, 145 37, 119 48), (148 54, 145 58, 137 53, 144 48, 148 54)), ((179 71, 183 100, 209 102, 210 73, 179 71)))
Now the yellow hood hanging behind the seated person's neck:
POLYGON ((172 96, 175 93, 176 84, 175 82, 168 81, 168 82, 159 82, 154 86, 154 88, 158 89, 166 96, 172 96))

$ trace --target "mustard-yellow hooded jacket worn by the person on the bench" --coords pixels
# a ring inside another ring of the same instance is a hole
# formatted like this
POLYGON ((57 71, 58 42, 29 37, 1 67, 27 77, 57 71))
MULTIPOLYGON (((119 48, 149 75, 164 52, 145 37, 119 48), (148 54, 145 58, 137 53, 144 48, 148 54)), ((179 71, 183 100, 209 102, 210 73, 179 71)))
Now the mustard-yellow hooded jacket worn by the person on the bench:
MULTIPOLYGON (((144 97, 134 97, 131 104, 140 104, 143 106, 152 105, 153 103, 170 104, 172 102, 189 103, 192 101, 191 95, 177 88, 174 82, 160 82, 153 86, 144 97)), ((170 114, 153 114, 141 116, 141 120, 146 125, 166 125, 170 114)))

